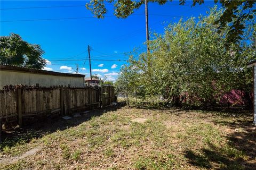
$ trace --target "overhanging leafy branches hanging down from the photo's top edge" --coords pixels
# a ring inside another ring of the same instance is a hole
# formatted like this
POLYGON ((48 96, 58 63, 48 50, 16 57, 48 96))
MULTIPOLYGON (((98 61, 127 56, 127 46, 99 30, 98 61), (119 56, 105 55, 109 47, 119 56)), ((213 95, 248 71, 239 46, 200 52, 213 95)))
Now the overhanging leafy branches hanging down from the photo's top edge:
MULTIPOLYGON (((148 2, 158 3, 159 5, 164 5, 167 0, 148 0, 148 2)), ((236 43, 243 35, 243 30, 245 29, 245 21, 253 19, 256 10, 254 5, 256 1, 218 1, 214 0, 215 3, 220 3, 225 10, 223 11, 221 17, 215 21, 218 25, 218 31, 222 31, 229 24, 229 32, 227 36, 227 43, 236 43), (242 13, 240 12, 242 11, 242 13)), ((113 1, 113 0, 91 0, 90 3, 86 4, 87 9, 92 11, 95 17, 103 19, 107 13, 106 3, 114 3, 114 15, 117 18, 127 18, 135 10, 137 10, 145 0, 140 1, 113 1)), ((180 5, 184 5, 186 0, 180 0, 180 5)), ((193 0, 193 5, 203 4, 204 0, 193 0)))

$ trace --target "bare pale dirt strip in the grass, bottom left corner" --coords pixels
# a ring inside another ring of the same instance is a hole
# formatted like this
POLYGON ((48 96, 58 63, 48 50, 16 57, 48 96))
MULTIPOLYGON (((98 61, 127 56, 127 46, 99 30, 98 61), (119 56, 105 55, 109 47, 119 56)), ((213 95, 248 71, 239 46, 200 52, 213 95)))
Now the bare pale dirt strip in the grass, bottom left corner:
POLYGON ((14 156, 14 157, 10 157, 10 158, 0 158, 0 163, 1 164, 13 164, 15 162, 18 162, 20 159, 23 159, 23 158, 26 158, 27 156, 36 154, 36 152, 38 152, 41 149, 42 149, 42 147, 37 147, 37 148, 33 148, 33 149, 25 152, 21 156, 14 156))

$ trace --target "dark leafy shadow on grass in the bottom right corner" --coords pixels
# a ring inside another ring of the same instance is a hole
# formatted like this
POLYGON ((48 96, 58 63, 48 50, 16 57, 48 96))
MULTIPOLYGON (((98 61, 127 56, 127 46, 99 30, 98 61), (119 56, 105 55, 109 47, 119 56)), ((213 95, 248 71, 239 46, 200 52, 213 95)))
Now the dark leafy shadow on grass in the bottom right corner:
POLYGON ((234 132, 227 137, 227 146, 217 148, 211 143, 195 153, 185 152, 191 165, 206 169, 255 169, 256 167, 256 132, 247 128, 243 132, 234 132))

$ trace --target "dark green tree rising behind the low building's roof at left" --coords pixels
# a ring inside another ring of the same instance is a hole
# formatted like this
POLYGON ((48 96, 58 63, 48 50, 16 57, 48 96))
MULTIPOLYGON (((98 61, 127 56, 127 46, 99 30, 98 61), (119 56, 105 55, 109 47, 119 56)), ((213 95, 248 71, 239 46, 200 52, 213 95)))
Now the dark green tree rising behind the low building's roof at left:
POLYGON ((42 58, 44 51, 37 44, 29 44, 22 38, 10 33, 0 37, 0 62, 15 66, 43 69, 46 61, 42 58))

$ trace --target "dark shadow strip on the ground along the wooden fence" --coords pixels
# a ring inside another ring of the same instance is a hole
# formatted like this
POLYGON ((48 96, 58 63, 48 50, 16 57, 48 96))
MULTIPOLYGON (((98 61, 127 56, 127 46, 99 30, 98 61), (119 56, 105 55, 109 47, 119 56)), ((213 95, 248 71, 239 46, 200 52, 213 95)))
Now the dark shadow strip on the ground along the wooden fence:
POLYGON ((124 106, 124 104, 118 104, 117 106, 105 107, 98 110, 92 110, 89 113, 83 114, 81 117, 72 118, 70 120, 63 120, 61 116, 52 120, 46 119, 42 122, 36 122, 31 125, 23 126, 22 128, 16 128, 12 131, 1 132, 0 151, 3 151, 5 147, 13 147, 20 144, 25 144, 33 139, 41 138, 45 134, 50 134, 55 131, 66 130, 79 124, 91 120, 92 117, 101 116, 103 113, 109 111, 117 111, 124 106))

